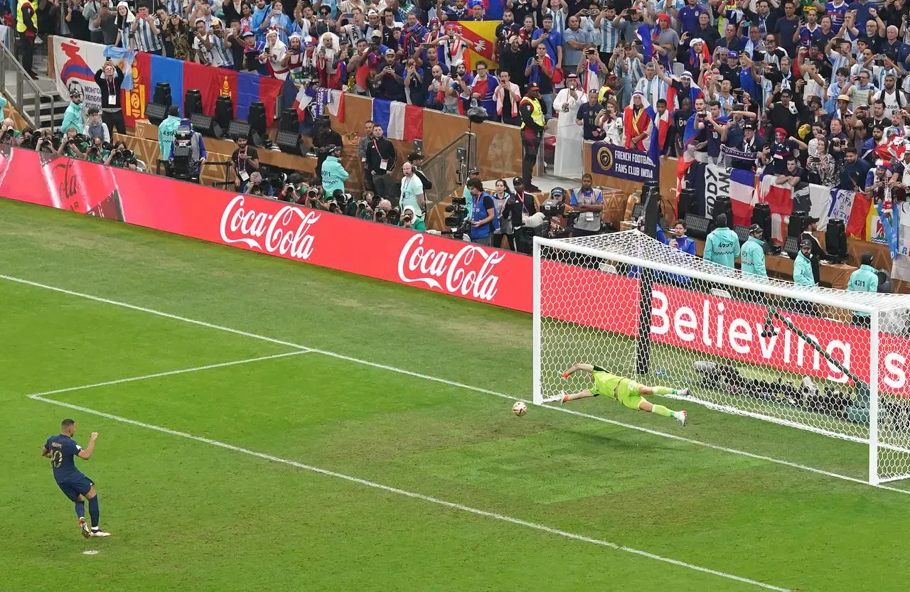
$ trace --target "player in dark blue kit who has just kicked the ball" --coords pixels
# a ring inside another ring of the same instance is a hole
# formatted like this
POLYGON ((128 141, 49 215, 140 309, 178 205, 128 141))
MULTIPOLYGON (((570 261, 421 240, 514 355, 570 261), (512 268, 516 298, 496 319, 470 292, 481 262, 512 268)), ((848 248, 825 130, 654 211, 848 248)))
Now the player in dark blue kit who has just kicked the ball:
POLYGON ((41 456, 51 459, 51 469, 54 471, 54 480, 66 497, 76 504, 76 516, 79 517, 79 530, 82 536, 110 537, 110 533, 98 527, 98 494, 92 480, 83 475, 76 468, 76 457, 88 460, 95 451, 96 432, 88 438, 88 446, 83 448, 76 444, 73 436, 76 434, 76 422, 64 419, 60 424, 60 434, 50 436, 41 448, 41 456), (86 524, 86 499, 88 500, 88 514, 92 519, 92 528, 86 524))

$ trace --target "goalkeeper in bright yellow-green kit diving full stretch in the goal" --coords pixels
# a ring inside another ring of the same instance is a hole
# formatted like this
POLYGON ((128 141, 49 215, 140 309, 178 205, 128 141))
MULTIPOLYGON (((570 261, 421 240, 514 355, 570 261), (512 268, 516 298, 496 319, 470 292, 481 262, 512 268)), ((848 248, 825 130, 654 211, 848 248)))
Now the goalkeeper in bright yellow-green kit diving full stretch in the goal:
POLYGON ((575 399, 606 395, 611 396, 630 409, 641 409, 648 413, 656 413, 659 416, 672 417, 685 426, 687 419, 685 411, 671 411, 665 406, 653 405, 644 398, 644 395, 687 396, 689 394, 688 388, 677 390, 675 388, 670 388, 669 386, 645 386, 634 380, 630 380, 629 378, 610 374, 601 366, 591 366, 591 364, 576 364, 575 366, 571 366, 571 368, 562 373, 562 378, 568 379, 569 376, 575 374, 579 370, 591 373, 591 376, 594 379, 594 386, 572 395, 561 394, 551 396, 544 399, 543 402, 555 403, 556 401, 559 401, 560 405, 563 405, 569 401, 574 401, 575 399))

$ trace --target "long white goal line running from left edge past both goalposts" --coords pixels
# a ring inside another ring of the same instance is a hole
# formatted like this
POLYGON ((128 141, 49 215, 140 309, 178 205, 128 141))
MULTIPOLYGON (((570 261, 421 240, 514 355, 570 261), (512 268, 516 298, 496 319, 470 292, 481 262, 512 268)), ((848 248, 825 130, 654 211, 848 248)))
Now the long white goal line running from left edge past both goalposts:
MULTIPOLYGON (((40 288, 44 288, 44 289, 46 289, 46 290, 53 290, 53 291, 55 291, 55 292, 59 292, 59 293, 61 293, 61 294, 66 294, 66 295, 68 295, 68 296, 78 296, 78 297, 80 297, 80 298, 87 298, 87 299, 89 299, 89 300, 95 300, 96 302, 103 302, 103 303, 109 304, 109 305, 123 306, 124 308, 129 308, 129 309, 132 309, 132 310, 138 310, 138 311, 145 312, 145 313, 148 313, 148 314, 151 314, 151 315, 165 316, 165 317, 167 317, 167 318, 172 318, 172 319, 175 319, 175 320, 185 321, 185 322, 187 322, 187 323, 193 323, 193 324, 199 325, 199 326, 207 326, 207 327, 211 327, 211 328, 216 328, 216 329, 219 329, 219 330, 222 330, 222 331, 227 331, 227 332, 230 332, 230 333, 235 333, 235 334, 243 335, 243 336, 249 336, 249 337, 253 337, 253 338, 256 338, 256 339, 261 339, 261 340, 264 340, 264 341, 269 341, 269 342, 272 342, 272 343, 282 344, 282 345, 285 345, 285 346, 296 347, 296 348, 298 348, 298 349, 302 349, 302 350, 306 350, 306 351, 311 351, 311 352, 313 352, 313 353, 322 354, 322 355, 324 355, 324 356, 335 357, 335 358, 338 358, 338 359, 341 359, 341 360, 347 360, 347 361, 349 361, 349 362, 354 362, 354 363, 356 363, 356 364, 362 364, 362 365, 364 365, 364 366, 371 366, 371 367, 374 367, 374 368, 380 368, 380 369, 383 369, 383 370, 388 370, 389 372, 396 372, 396 373, 398 373, 398 374, 402 374, 402 375, 406 375, 406 376, 414 376, 414 377, 416 377, 416 378, 422 378, 422 379, 424 379, 424 380, 430 380, 430 381, 437 382, 437 383, 440 383, 440 384, 443 384, 443 385, 456 386, 456 387, 458 387, 458 388, 463 388, 463 389, 465 389, 465 390, 474 391, 474 392, 476 392, 476 393, 483 393, 483 394, 485 394, 485 395, 499 396, 499 397, 501 397, 501 398, 510 399, 510 400, 512 400, 512 401, 521 400, 521 401, 524 401, 525 403, 527 403, 527 404, 529 404, 529 405, 533 405, 533 402, 532 402, 531 400, 523 399, 523 398, 517 397, 517 396, 507 395, 507 394, 505 394, 505 393, 499 393, 499 392, 490 390, 490 389, 488 389, 488 388, 481 388, 480 386, 465 385, 465 384, 463 384, 463 383, 455 382, 455 381, 452 381, 452 380, 446 380, 445 378, 440 378, 440 377, 438 377, 438 376, 429 376, 429 375, 425 375, 425 374, 420 374, 420 373, 418 373, 418 372, 412 372, 412 371, 410 371, 410 370, 405 370, 405 369, 403 369, 403 368, 398 368, 398 367, 395 367, 395 366, 387 366, 387 365, 385 365, 385 364, 378 364, 378 363, 376 363, 376 362, 370 362, 369 360, 363 360, 363 359, 359 359, 359 358, 357 358, 357 357, 343 356, 343 355, 341 355, 341 354, 336 354, 336 353, 334 353, 334 352, 329 352, 329 351, 326 351, 326 350, 324 350, 324 349, 317 349, 317 348, 312 348, 312 347, 307 347, 307 346, 301 346, 301 345, 299 345, 299 344, 289 343, 289 342, 287 342, 287 341, 280 341, 280 340, 278 340, 278 339, 272 339, 271 337, 267 337, 267 336, 260 336, 260 335, 254 334, 254 333, 248 333, 248 332, 246 332, 246 331, 238 331, 237 329, 231 329, 231 328, 226 327, 226 326, 212 325, 212 324, 206 323, 206 322, 204 322, 204 321, 197 321, 197 320, 195 320, 195 319, 186 318, 186 317, 184 317, 184 316, 171 315, 171 314, 169 314, 169 313, 161 312, 161 311, 154 310, 154 309, 151 309, 151 308, 145 308, 145 307, 143 307, 143 306, 135 306, 135 305, 128 304, 128 303, 126 303, 126 302, 120 302, 120 301, 117 301, 117 300, 110 300, 110 299, 108 299, 108 298, 101 298, 101 297, 99 297, 99 296, 91 296, 91 295, 89 295, 89 294, 83 294, 83 293, 81 293, 81 292, 75 292, 75 291, 67 290, 67 289, 61 288, 61 287, 47 286, 46 284, 39 284, 38 282, 32 282, 32 281, 30 281, 30 280, 21 279, 21 278, 19 278, 19 277, 14 277, 14 276, 5 276, 5 275, 0 274, 0 279, 9 280, 9 281, 11 281, 11 282, 16 282, 16 283, 19 283, 19 284, 25 284, 25 285, 27 285, 27 286, 40 287, 40 288)), ((733 455, 739 455, 739 456, 741 456, 741 457, 749 457, 749 458, 754 458, 754 459, 756 459, 756 460, 763 460, 763 461, 766 461, 766 462, 769 462, 769 463, 773 463, 773 464, 775 464, 775 465, 781 465, 781 466, 784 466, 784 467, 797 468, 797 469, 800 469, 800 470, 803 470, 803 471, 808 471, 808 472, 810 472, 810 473, 814 473, 814 474, 816 474, 816 475, 824 475, 824 477, 833 477, 833 478, 835 478, 835 479, 841 479, 841 480, 843 480, 843 481, 849 481, 849 482, 851 482, 851 483, 858 483, 858 484, 865 485, 865 486, 868 486, 868 487, 877 487, 877 488, 879 488, 879 489, 886 489, 886 490, 888 490, 888 491, 895 491, 895 492, 897 492, 897 493, 905 494, 905 495, 910 494, 910 490, 899 489, 899 488, 897 488, 897 487, 889 487, 889 486, 885 486, 885 485, 881 485, 881 484, 873 486, 873 485, 870 485, 869 482, 868 482, 868 481, 865 481, 864 479, 859 479, 859 478, 856 478, 856 477, 849 477, 849 476, 846 476, 846 475, 840 475, 840 474, 838 474, 838 473, 832 473, 832 472, 830 472, 830 471, 825 471, 825 470, 820 469, 820 468, 808 467, 808 466, 806 466, 806 465, 801 465, 801 464, 799 464, 799 463, 790 462, 790 461, 788 461, 788 460, 782 460, 782 459, 780 459, 780 458, 765 457, 765 456, 763 456, 763 455, 753 454, 753 453, 751 453, 751 452, 746 452, 746 451, 744 451, 744 450, 738 450, 738 449, 736 449, 736 448, 722 447, 722 446, 719 446, 719 445, 716 445, 716 444, 710 444, 710 443, 708 443, 708 442, 702 442, 702 441, 700 441, 700 440, 695 440, 695 439, 693 439, 693 438, 688 438, 688 437, 684 437, 684 436, 677 436, 677 435, 675 435, 675 434, 668 434, 668 433, 666 433, 666 432, 661 432, 661 431, 659 431, 659 430, 651 429, 651 428, 648 428, 648 427, 642 427, 642 426, 635 426, 635 425, 632 425, 632 424, 626 424, 626 423, 623 423, 622 421, 617 421, 617 420, 615 420, 615 419, 608 419, 608 418, 606 418, 606 417, 601 417, 601 416, 593 416, 593 415, 591 415, 591 414, 581 413, 581 411, 575 411, 574 409, 568 409, 568 408, 562 407, 562 406, 546 406, 546 405, 544 405, 544 406, 540 406, 540 407, 537 407, 537 408, 551 409, 551 410, 553 410, 553 411, 559 411, 559 412, 561 412, 561 413, 568 413, 568 414, 573 415, 573 416, 585 417, 585 418, 587 418, 587 419, 593 419, 593 420, 595 420, 595 421, 601 421, 601 422, 603 422, 603 423, 605 423, 605 424, 610 424, 610 425, 612 425, 612 426, 625 427, 625 428, 628 428, 628 429, 633 429, 633 430, 642 432, 642 433, 644 433, 644 434, 651 434, 652 436, 661 436, 661 437, 669 438, 669 439, 671 439, 671 440, 676 440, 676 441, 678 441, 678 442, 685 442, 685 443, 687 443, 687 444, 693 444, 694 446, 712 448, 713 450, 718 450, 718 451, 720 451, 720 452, 726 452, 726 453, 733 454, 733 455)))

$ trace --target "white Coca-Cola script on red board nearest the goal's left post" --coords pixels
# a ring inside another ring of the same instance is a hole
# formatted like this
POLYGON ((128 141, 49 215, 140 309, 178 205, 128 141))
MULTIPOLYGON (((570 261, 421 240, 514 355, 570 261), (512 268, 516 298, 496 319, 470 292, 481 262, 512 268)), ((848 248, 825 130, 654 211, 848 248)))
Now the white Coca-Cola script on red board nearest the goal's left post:
POLYGON ((496 296, 500 278, 493 275, 493 267, 505 258, 504 253, 470 243, 453 253, 427 248, 423 241, 424 235, 416 234, 401 249, 398 272, 402 282, 488 302, 496 296))

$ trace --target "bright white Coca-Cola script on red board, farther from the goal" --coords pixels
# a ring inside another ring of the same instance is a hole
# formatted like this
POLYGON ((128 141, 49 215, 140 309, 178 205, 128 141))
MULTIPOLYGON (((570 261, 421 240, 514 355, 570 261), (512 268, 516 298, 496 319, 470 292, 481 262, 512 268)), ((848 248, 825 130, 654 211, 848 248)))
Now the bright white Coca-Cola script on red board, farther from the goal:
POLYGON ((245 207, 246 200, 245 196, 234 197, 221 215, 221 240, 225 244, 240 243, 301 261, 313 254, 311 227, 319 222, 319 214, 298 206, 283 206, 274 214, 258 212, 245 207))

